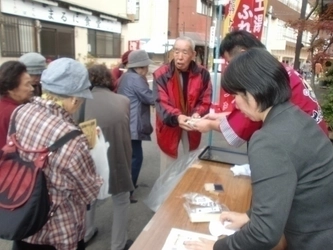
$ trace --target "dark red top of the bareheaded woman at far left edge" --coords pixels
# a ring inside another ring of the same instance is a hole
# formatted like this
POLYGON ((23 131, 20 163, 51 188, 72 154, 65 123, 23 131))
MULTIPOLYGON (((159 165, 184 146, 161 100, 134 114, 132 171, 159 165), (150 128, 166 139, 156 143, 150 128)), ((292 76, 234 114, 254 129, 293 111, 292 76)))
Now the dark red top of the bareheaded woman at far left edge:
POLYGON ((9 97, 0 99, 0 149, 6 144, 10 116, 19 105, 9 97))

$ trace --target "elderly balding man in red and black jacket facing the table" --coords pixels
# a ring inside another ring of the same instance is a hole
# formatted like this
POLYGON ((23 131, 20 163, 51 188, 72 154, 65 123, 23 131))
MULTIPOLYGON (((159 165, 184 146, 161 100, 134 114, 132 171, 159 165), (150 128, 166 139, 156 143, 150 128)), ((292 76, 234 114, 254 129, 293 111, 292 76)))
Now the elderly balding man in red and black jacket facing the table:
POLYGON ((193 61, 196 55, 194 48, 192 39, 177 38, 173 48, 174 59, 153 74, 161 174, 178 157, 180 141, 184 153, 198 148, 201 133, 193 131, 188 121, 207 114, 211 104, 210 74, 193 61))

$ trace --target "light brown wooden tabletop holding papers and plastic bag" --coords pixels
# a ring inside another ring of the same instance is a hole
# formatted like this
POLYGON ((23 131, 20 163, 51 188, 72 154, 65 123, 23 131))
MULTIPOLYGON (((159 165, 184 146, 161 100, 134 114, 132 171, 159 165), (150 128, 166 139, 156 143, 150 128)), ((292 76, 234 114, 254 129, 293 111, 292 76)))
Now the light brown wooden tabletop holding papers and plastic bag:
POLYGON ((225 204, 231 211, 246 212, 251 203, 251 179, 247 176, 234 177, 230 165, 198 161, 187 169, 166 201, 142 230, 131 250, 162 249, 171 228, 179 228, 209 234, 208 222, 192 223, 183 207, 182 195, 197 192, 225 204), (224 191, 211 194, 204 189, 205 183, 223 185, 224 191))

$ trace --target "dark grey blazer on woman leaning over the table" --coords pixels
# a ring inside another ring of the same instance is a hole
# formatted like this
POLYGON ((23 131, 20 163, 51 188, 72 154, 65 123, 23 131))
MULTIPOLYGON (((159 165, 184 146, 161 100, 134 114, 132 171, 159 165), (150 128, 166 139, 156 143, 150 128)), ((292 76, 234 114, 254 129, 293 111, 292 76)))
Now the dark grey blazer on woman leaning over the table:
POLYGON ((273 107, 249 144, 250 222, 217 249, 333 249, 333 147, 315 120, 291 103, 273 107))

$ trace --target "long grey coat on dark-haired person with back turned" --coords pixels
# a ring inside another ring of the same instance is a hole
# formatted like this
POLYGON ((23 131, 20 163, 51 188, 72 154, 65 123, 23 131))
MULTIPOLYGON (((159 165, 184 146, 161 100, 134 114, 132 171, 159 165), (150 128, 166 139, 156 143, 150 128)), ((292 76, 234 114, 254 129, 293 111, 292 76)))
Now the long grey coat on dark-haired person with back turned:
POLYGON ((132 146, 129 128, 129 100, 107 88, 94 87, 94 99, 86 100, 85 120, 96 119, 110 143, 109 192, 116 195, 134 190, 131 179, 132 146))

